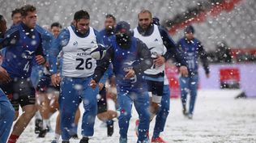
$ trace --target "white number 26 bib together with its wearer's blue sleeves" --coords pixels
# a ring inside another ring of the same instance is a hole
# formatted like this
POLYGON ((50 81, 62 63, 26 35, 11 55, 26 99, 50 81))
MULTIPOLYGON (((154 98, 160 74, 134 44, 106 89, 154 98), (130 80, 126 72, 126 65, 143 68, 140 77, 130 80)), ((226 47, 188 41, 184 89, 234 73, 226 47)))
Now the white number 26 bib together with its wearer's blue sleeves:
POLYGON ((49 53, 50 72, 57 73, 56 57, 62 50, 62 76, 70 78, 87 78, 96 68, 96 60, 90 55, 94 44, 103 44, 96 30, 89 28, 85 36, 79 36, 75 27, 66 27, 53 41, 53 48, 49 53))

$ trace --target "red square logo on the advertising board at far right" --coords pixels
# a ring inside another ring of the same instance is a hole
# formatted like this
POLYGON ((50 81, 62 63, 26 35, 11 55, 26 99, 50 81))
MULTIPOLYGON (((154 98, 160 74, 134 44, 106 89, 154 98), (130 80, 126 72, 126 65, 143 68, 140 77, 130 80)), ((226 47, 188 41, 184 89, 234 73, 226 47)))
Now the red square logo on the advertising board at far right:
POLYGON ((220 87, 221 88, 239 88, 240 72, 238 68, 220 69, 220 87))

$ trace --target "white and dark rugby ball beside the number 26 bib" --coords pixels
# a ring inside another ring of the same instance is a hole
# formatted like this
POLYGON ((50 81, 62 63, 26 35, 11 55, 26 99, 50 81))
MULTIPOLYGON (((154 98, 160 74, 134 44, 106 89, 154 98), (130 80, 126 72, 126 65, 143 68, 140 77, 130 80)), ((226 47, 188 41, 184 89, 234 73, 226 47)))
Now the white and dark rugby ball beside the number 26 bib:
POLYGON ((106 52, 107 50, 103 44, 94 44, 90 54, 95 60, 101 60, 105 57, 106 52))

